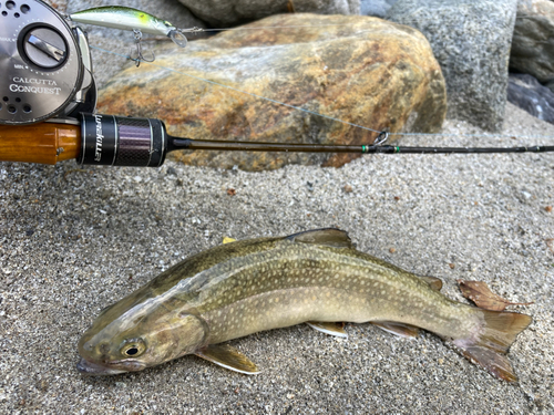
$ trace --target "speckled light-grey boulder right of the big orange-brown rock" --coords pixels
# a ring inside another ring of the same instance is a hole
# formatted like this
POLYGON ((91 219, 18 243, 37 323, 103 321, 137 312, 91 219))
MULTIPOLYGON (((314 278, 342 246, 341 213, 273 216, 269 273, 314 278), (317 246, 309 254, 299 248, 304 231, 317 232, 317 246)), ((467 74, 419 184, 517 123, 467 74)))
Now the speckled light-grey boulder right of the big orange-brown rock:
POLYGON ((388 19, 420 30, 447 81, 451 118, 499 132, 517 0, 398 0, 388 19))

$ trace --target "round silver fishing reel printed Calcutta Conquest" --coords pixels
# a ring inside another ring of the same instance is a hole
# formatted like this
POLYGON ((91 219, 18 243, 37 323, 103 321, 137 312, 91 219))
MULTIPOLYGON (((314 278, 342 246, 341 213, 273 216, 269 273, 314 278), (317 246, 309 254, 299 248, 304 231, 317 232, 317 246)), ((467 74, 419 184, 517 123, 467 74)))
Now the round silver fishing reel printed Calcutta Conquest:
POLYGON ((95 108, 85 33, 42 1, 0 2, 0 124, 34 124, 95 108))

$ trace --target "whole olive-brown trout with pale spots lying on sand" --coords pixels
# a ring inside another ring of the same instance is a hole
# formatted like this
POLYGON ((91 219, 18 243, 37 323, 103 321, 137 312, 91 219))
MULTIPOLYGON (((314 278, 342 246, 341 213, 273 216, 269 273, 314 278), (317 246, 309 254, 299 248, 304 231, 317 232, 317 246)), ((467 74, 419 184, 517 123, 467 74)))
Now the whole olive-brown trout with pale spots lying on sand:
POLYGON ((305 322, 347 338, 341 322, 371 322, 406 338, 430 331, 495 377, 515 382, 506 354, 532 318, 453 301, 441 287, 440 279, 358 251, 335 228, 229 242, 188 257, 102 310, 79 342, 76 369, 111 375, 195 354, 257 374, 225 342, 305 322))

